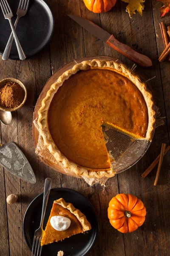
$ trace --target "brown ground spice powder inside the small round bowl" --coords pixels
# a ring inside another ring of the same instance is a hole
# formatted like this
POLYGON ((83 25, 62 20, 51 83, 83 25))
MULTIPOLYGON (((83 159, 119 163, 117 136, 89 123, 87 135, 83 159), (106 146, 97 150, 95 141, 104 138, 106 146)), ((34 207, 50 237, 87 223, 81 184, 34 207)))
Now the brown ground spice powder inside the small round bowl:
POLYGON ((24 96, 20 84, 9 81, 0 88, 0 105, 4 108, 17 108, 23 102, 24 96))

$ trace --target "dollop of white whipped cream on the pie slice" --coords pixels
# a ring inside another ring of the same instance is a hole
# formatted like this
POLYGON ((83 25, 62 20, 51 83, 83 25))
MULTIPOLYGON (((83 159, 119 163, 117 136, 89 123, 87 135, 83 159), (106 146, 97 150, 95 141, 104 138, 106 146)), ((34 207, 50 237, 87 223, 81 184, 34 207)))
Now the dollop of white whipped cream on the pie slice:
POLYGON ((63 216, 52 216, 50 224, 55 230, 64 231, 70 227, 71 220, 63 216))

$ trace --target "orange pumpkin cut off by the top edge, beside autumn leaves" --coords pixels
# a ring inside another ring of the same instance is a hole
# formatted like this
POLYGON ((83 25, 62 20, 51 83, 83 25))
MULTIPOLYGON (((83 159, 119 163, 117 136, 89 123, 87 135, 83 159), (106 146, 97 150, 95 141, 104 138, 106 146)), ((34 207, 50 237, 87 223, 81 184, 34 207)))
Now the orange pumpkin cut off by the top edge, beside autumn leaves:
POLYGON ((108 12, 115 5, 116 0, 84 0, 85 6, 92 12, 108 12))

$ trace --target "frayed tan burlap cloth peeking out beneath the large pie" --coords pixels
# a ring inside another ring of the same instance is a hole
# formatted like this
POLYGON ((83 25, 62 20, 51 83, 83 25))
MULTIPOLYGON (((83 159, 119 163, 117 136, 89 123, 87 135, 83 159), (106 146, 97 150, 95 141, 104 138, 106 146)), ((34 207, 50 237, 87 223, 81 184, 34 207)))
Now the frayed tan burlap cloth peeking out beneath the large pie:
MULTIPOLYGON (((158 127, 160 125, 164 125, 164 117, 160 116, 159 108, 156 107, 155 111, 156 111, 156 127, 158 127)), ((37 131, 39 132, 40 128, 39 128, 39 125, 37 124, 37 119, 38 118, 36 118, 33 123, 34 123, 35 127, 37 128, 37 131)), ((40 134, 39 134, 39 138, 38 138, 37 147, 35 149, 35 153, 37 155, 39 155, 40 157, 42 157, 43 159, 48 159, 52 163, 59 164, 57 162, 57 160, 54 158, 54 156, 50 153, 48 148, 45 147, 44 141, 40 134)), ((62 164, 60 164, 60 165, 62 166, 62 164)), ((63 174, 69 175, 69 172, 63 166, 62 166, 62 170, 63 170, 62 171, 63 174)), ((85 182, 87 182, 88 185, 90 185, 90 186, 93 186, 95 183, 99 183, 100 185, 105 186, 105 183, 108 180, 107 177, 102 177, 101 179, 98 179, 96 177, 95 178, 87 178, 85 176, 76 176, 76 175, 74 177, 84 179, 85 182)))

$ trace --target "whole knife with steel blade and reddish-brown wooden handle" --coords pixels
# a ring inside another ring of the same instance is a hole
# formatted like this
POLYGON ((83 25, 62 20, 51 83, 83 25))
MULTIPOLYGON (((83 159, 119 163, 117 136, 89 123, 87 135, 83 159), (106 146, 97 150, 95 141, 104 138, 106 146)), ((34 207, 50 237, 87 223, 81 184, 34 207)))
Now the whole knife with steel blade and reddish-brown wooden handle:
POLYGON ((146 55, 136 52, 128 45, 119 42, 113 35, 109 34, 107 31, 97 26, 90 20, 75 15, 68 16, 71 17, 71 19, 75 20, 84 29, 88 30, 88 32, 91 32, 91 34, 95 35, 97 38, 104 41, 110 47, 115 49, 117 52, 120 52, 122 55, 124 55, 131 61, 135 62, 136 64, 139 64, 141 67, 152 66, 152 61, 146 55))

